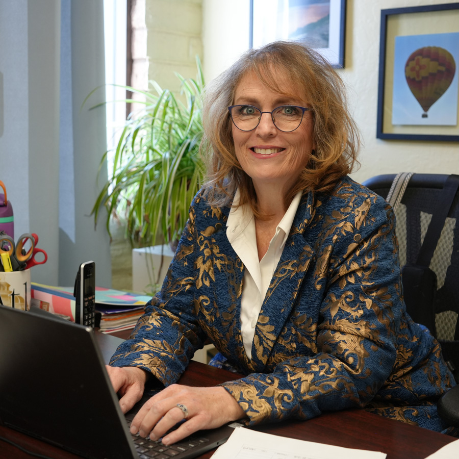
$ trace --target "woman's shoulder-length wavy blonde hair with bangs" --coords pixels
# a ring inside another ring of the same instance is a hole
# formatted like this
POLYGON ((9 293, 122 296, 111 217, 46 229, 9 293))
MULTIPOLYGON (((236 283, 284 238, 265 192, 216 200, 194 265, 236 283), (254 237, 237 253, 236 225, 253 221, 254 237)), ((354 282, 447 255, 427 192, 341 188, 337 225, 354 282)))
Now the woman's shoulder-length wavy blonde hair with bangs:
POLYGON ((249 203, 254 214, 263 217, 257 210, 252 181, 236 158, 228 112, 236 88, 248 72, 253 72, 267 88, 281 94, 285 93, 282 82, 289 81, 293 87, 300 88, 301 95, 307 97, 308 107, 314 109, 316 148, 297 183, 288 191, 285 209, 300 190, 331 190, 357 163, 360 140, 347 111, 343 81, 314 49, 299 42, 277 41, 246 52, 206 87, 201 151, 207 163, 205 188, 211 202, 217 206, 229 205, 239 188, 239 204, 249 203), (281 81, 276 78, 279 74, 285 77, 281 81))

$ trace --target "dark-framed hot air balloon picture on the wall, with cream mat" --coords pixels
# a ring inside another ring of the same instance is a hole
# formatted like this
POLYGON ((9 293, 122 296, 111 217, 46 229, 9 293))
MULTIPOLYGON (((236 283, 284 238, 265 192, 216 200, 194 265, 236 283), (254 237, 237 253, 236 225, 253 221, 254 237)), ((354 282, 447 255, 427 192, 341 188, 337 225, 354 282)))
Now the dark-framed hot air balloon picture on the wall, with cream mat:
POLYGON ((458 82, 458 3, 381 10, 376 138, 459 141, 458 82))

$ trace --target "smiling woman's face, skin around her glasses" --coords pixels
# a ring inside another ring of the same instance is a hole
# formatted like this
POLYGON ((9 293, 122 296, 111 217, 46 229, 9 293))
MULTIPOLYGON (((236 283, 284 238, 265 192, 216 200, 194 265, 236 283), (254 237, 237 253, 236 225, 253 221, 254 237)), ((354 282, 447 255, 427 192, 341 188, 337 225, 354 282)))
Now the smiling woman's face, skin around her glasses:
MULTIPOLYGON (((233 105, 252 105, 262 112, 271 112, 283 105, 308 107, 303 91, 284 80, 285 83, 279 85, 283 88, 281 94, 267 88, 257 75, 249 72, 236 87, 233 105)), ((279 131, 269 113, 262 114, 260 124, 252 131, 241 131, 234 123, 232 129, 236 157, 256 190, 269 185, 287 191, 298 180, 315 148, 310 111, 304 112, 301 124, 292 132, 279 131)))

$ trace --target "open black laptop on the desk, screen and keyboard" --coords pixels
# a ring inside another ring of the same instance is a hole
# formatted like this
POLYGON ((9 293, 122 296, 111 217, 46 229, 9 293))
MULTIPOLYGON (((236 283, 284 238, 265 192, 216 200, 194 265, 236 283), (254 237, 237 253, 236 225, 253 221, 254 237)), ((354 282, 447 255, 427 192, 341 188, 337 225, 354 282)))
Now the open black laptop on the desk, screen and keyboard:
MULTIPOLYGON (((0 422, 90 459, 155 457, 161 444, 144 444, 129 431, 135 408, 121 412, 99 334, 39 311, 0 304, 0 422)), ((113 353, 119 341, 105 352, 113 353)), ((189 459, 215 448, 237 425, 201 430, 176 443, 171 457, 189 459)))

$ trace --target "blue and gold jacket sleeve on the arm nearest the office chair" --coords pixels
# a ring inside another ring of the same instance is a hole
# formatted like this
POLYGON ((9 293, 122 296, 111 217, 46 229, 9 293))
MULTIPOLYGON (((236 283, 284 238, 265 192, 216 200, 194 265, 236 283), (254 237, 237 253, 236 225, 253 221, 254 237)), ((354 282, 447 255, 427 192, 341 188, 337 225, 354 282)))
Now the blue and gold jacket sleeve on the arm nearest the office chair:
MULTIPOLYGON (((304 302, 324 292, 310 352, 291 353, 268 374, 222 385, 246 412, 248 424, 364 406, 391 374, 404 303, 394 215, 381 201, 376 210, 367 200, 350 217, 330 217, 318 233, 324 243, 315 247, 308 283, 315 293, 299 295, 304 302)), ((289 333, 285 329, 284 335, 289 333)))

